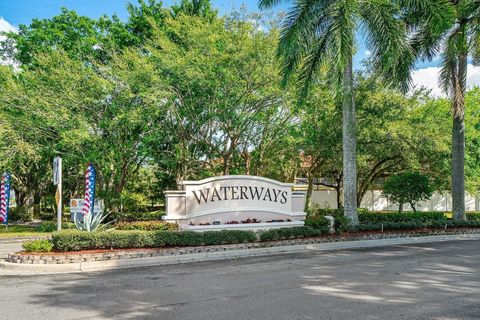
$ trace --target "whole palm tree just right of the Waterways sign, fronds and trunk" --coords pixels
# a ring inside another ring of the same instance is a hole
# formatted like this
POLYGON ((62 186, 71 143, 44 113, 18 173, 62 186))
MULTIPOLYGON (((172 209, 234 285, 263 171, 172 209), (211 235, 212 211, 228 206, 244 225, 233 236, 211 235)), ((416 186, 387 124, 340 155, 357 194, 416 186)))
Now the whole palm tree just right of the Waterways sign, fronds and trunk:
MULTIPOLYGON (((280 0, 260 0, 260 8, 280 0)), ((358 224, 355 103, 352 57, 356 35, 364 32, 374 69, 397 79, 398 57, 405 47, 405 22, 396 3, 389 0, 295 0, 282 28, 278 55, 284 80, 299 74, 306 94, 323 67, 341 84, 343 108, 343 203, 345 215, 358 224)), ((398 69, 401 71, 401 69, 398 69)))

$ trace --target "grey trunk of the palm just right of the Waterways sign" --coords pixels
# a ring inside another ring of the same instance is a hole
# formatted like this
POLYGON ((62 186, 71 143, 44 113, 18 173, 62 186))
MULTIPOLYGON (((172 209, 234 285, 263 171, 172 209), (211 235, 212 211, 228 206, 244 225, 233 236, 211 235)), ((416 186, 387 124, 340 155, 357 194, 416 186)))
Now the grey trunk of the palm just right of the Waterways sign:
POLYGON ((343 205, 352 225, 358 224, 355 103, 352 57, 343 70, 343 205))

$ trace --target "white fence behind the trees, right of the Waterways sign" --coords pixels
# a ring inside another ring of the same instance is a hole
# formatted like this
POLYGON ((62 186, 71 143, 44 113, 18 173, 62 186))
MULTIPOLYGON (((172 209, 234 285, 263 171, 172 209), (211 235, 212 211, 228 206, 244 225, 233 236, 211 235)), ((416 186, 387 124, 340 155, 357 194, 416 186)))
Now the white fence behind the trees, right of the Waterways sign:
MULTIPOLYGON (((312 193, 312 203, 320 205, 322 208, 337 208, 337 192, 335 190, 316 190, 312 193)), ((370 211, 398 210, 398 205, 392 203, 382 195, 381 190, 367 191, 360 205, 370 211)), ((448 192, 435 192, 430 200, 422 201, 416 206, 418 211, 451 211, 452 196, 448 192)), ((411 211, 410 204, 404 204, 403 210, 411 211)), ((479 211, 480 196, 477 193, 475 197, 465 194, 465 210, 479 211)))

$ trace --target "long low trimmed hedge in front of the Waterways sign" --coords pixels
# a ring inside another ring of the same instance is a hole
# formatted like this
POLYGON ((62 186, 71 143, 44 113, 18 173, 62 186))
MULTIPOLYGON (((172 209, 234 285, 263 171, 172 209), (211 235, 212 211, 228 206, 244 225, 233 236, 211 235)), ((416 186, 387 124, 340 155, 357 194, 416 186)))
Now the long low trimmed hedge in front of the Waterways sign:
POLYGON ((60 251, 95 249, 161 248, 254 242, 252 231, 60 231, 52 234, 54 248, 60 251))

